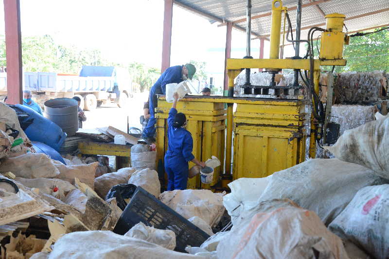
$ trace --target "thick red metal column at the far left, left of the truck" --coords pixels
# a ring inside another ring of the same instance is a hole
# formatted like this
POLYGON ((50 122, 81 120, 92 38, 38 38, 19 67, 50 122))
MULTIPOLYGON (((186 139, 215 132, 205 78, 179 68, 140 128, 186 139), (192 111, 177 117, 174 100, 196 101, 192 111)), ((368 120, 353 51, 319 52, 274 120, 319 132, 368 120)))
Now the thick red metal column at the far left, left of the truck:
POLYGON ((4 0, 5 57, 7 59, 7 93, 9 104, 22 103, 22 61, 19 0, 4 0))

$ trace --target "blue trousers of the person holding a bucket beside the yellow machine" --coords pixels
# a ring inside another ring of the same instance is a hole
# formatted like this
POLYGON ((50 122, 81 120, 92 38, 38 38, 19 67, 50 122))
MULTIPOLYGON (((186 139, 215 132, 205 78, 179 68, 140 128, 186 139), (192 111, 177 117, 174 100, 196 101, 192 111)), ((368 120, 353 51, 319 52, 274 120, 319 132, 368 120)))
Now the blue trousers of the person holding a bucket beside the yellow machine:
POLYGON ((180 155, 165 155, 165 172, 168 176, 167 190, 186 190, 188 184, 189 165, 180 155))

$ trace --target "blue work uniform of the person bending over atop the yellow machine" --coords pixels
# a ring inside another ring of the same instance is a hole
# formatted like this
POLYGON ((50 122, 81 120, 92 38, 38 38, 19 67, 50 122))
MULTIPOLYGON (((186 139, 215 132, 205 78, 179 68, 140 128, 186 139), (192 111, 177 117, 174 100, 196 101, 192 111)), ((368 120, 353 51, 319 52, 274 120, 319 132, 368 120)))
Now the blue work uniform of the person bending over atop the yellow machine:
POLYGON ((168 83, 179 83, 182 81, 182 67, 183 65, 171 66, 162 73, 159 79, 150 89, 149 95, 149 112, 150 118, 147 126, 143 130, 143 138, 154 137, 155 134, 155 123, 154 108, 157 107, 157 95, 166 94, 166 84, 168 83))

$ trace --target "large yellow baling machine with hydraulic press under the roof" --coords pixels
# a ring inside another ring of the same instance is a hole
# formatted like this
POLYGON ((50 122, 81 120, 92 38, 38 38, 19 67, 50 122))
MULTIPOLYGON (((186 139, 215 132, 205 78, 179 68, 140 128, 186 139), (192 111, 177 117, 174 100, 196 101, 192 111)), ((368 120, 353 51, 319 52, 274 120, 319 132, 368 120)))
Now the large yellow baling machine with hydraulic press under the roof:
MULTIPOLYGON (((299 1, 301 6, 301 0, 299 1)), ((250 0, 248 6, 251 6, 250 0)), ((224 162, 224 167, 221 166, 215 171, 211 184, 202 184, 199 178, 193 178, 189 180, 188 188, 223 190, 227 189, 231 180, 266 177, 303 162, 306 146, 306 105, 309 105, 309 109, 312 108, 309 156, 315 157, 316 143, 323 137, 323 128, 327 128, 328 119, 328 113, 318 98, 320 66, 346 65, 342 52, 348 39, 342 32, 344 15, 331 14, 325 18, 326 29, 313 27, 308 32, 307 40, 300 40, 300 35, 297 40, 289 40, 291 25, 287 8, 281 0, 273 0, 270 58, 253 59, 249 56, 248 48, 247 57, 227 60, 228 97, 185 97, 178 102, 177 110, 187 115, 187 129, 194 139, 195 157, 204 161, 214 155, 224 162), (284 23, 288 20, 286 39, 296 44, 296 47, 301 42, 308 44, 305 57, 300 58, 297 54, 294 58, 279 58, 282 16, 284 23), (313 57, 313 33, 316 31, 321 32, 319 59, 313 57), (249 69, 252 68, 265 68, 265 71, 272 75, 270 85, 251 85, 249 69), (242 88, 245 96, 253 97, 233 96, 234 79, 243 69, 246 69, 247 80, 242 88), (294 69, 295 77, 296 74, 300 75, 305 85, 299 85, 296 79, 293 85, 276 85, 275 75, 282 69, 294 69), (296 98, 285 98, 290 90, 296 98), (274 94, 271 98, 266 98, 269 91, 274 94), (302 91, 305 91, 305 94, 302 91), (257 95, 265 98, 255 97, 257 95), (224 109, 225 104, 227 109, 224 109), (233 113, 234 104, 236 111, 233 113)), ((248 33, 248 37, 249 35, 248 33)), ((163 170, 161 163, 167 149, 166 118, 169 109, 170 104, 165 101, 164 96, 159 96, 156 109, 159 170, 163 170)))

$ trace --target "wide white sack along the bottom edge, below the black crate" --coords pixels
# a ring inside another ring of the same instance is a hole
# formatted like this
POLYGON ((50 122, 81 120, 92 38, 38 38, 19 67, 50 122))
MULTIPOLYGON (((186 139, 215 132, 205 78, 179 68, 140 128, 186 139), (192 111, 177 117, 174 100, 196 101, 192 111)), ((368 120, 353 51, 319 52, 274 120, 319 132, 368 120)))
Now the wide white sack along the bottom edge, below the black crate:
POLYGON ((111 231, 81 231, 55 242, 49 259, 207 259, 175 252, 158 244, 125 237, 111 231))

